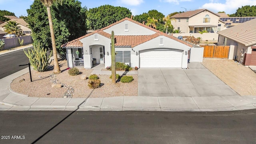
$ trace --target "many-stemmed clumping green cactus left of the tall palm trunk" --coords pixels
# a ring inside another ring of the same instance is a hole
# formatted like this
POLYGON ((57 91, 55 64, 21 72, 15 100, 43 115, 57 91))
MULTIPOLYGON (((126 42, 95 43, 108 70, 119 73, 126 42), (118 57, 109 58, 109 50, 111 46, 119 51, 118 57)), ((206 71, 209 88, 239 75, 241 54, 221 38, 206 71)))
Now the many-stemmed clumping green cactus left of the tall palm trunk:
POLYGON ((52 52, 47 58, 46 49, 40 48, 40 43, 36 44, 34 42, 33 44, 34 49, 28 48, 28 52, 24 50, 24 53, 29 59, 29 62, 31 66, 34 68, 34 70, 37 70, 38 72, 44 72, 47 70, 48 65, 50 64, 49 60, 52 55, 52 52))

